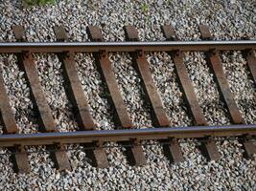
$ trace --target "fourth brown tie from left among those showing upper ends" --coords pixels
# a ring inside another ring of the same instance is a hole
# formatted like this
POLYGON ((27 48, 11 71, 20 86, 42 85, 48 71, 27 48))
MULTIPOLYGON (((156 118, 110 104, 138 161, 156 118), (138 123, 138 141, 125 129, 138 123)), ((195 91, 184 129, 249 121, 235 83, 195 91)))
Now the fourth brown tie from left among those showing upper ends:
MULTIPOLYGON (((138 32, 133 26, 126 26, 125 28, 126 38, 128 41, 139 41, 138 32)), ((136 53, 131 53, 132 62, 137 70, 138 74, 142 78, 143 88, 146 92, 147 99, 151 103, 151 117, 155 126, 165 127, 170 125, 170 119, 167 116, 161 98, 157 93, 157 88, 154 85, 151 77, 150 64, 144 54, 143 50, 139 50, 136 53)), ((168 140, 159 140, 164 142, 163 150, 165 156, 171 162, 183 161, 181 148, 178 145, 176 139, 169 138, 168 140)))

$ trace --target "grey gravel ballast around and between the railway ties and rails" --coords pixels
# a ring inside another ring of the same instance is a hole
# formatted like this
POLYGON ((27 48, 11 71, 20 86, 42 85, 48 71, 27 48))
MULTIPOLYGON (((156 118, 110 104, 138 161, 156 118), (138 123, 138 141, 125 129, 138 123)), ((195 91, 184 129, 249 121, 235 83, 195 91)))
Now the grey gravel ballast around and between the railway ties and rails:
MULTIPOLYGON (((207 24, 214 39, 256 39, 255 1, 59 1, 56 6, 23 9, 20 1, 0 1, 0 41, 15 41, 12 25, 22 24, 30 42, 55 41, 53 27, 63 25, 71 41, 89 41, 86 26, 102 29, 106 41, 124 41, 125 25, 134 25, 143 41, 165 40, 160 27, 172 24, 179 40, 199 40, 198 25, 207 24)), ((35 64, 53 116, 61 132, 76 131, 78 124, 63 88, 60 62, 55 54, 35 54, 35 64)), ((136 128, 151 128, 150 107, 140 78, 127 53, 109 54, 119 89, 136 128)), ((97 129, 114 129, 112 109, 90 54, 77 54, 77 69, 97 129)), ((167 53, 148 55, 151 74, 172 126, 193 124, 188 114, 175 66, 167 53)), ((222 66, 245 123, 256 122, 256 84, 239 52, 222 53, 222 66)), ((185 53, 184 61, 203 115, 210 125, 230 124, 217 83, 203 53, 185 53)), ((30 87, 14 55, 0 55, 6 88, 20 133, 35 133, 30 87)), ((2 124, 0 124, 2 126, 2 124)), ((1 128, 2 131, 2 128, 1 128)), ((152 143, 152 142, 151 142, 152 143)), ((115 145, 115 144, 111 144, 115 145)), ((30 174, 15 174, 6 155, 0 155, 1 190, 256 190, 256 162, 243 158, 238 141, 218 141, 221 160, 207 162, 196 143, 182 143, 185 161, 170 163, 156 145, 144 146, 147 164, 128 165, 124 148, 105 149, 110 167, 92 167, 85 152, 68 151, 73 170, 59 172, 48 153, 29 154, 30 174)), ((82 147, 81 147, 82 148, 82 147)), ((41 148, 44 150, 45 148, 41 148)), ((30 148, 31 152, 35 148, 30 148)), ((0 154, 7 150, 1 149, 0 154)))

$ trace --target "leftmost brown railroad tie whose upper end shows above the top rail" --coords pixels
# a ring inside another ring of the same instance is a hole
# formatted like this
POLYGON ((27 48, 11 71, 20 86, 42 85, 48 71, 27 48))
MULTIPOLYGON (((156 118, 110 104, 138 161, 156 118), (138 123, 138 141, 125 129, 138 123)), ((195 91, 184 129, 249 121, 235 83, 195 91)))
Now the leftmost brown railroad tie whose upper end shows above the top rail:
MULTIPOLYGON (((13 26, 12 28, 17 41, 25 41, 24 28, 22 26, 13 26)), ((41 87, 35 62, 32 53, 17 53, 18 65, 25 72, 27 82, 31 87, 31 96, 35 103, 36 112, 38 113, 39 131, 41 132, 58 132, 51 109, 45 99, 43 89, 41 87)), ((69 159, 64 147, 58 143, 48 146, 51 151, 51 157, 55 161, 55 165, 59 170, 71 170, 69 159)))

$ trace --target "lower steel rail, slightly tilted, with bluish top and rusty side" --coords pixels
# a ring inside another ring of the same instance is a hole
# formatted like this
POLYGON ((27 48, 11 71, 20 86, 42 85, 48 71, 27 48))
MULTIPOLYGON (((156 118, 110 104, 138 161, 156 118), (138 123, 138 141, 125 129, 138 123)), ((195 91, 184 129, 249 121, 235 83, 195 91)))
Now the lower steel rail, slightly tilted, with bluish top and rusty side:
POLYGON ((94 141, 126 141, 130 139, 166 139, 166 138, 207 138, 256 136, 256 124, 229 126, 192 126, 173 128, 151 128, 132 130, 101 130, 65 133, 13 134, 0 136, 1 147, 16 145, 49 145, 86 143, 94 141))

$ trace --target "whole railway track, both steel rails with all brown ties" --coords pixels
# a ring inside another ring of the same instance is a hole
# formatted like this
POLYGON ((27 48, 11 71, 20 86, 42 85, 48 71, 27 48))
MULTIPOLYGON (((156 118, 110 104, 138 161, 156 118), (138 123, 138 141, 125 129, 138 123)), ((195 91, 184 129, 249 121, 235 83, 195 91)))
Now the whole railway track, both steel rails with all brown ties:
POLYGON ((92 164, 98 167, 108 166, 105 142, 109 141, 126 147, 126 155, 131 165, 146 163, 142 142, 149 139, 159 141, 163 145, 166 157, 175 162, 183 160, 179 145, 181 138, 195 138, 200 142, 202 154, 207 159, 218 160, 221 156, 215 143, 216 138, 235 137, 243 144, 244 157, 254 158, 256 124, 244 124, 244 119, 223 72, 219 53, 220 51, 242 51, 252 79, 256 83, 255 40, 213 41, 207 26, 199 26, 202 41, 179 42, 172 26, 167 25, 162 27, 167 41, 140 42, 138 32, 134 27, 127 26, 124 30, 127 42, 104 42, 99 28, 89 26, 87 33, 91 42, 67 42, 68 37, 65 30, 62 27, 55 27, 54 31, 58 42, 28 43, 24 37, 24 28, 14 26, 13 32, 17 42, 0 43, 0 53, 14 53, 17 56, 18 66, 24 71, 26 80, 31 87, 31 95, 36 106, 35 113, 38 114, 40 127, 38 134, 18 134, 4 79, 0 75, 0 111, 4 124, 4 135, 0 136, 0 146, 7 147, 11 151, 15 171, 30 171, 26 147, 35 145, 47 145, 56 167, 60 170, 71 169, 65 146, 72 143, 82 144, 86 148, 88 157, 92 159, 92 164), (151 76, 150 63, 146 57, 146 54, 151 52, 167 52, 171 55, 175 63, 175 73, 178 76, 180 88, 195 126, 172 127, 151 76), (232 125, 209 126, 198 104, 198 98, 183 61, 183 52, 205 53, 208 66, 215 75, 232 125), (58 132, 38 78, 32 53, 56 53, 58 55, 65 79, 66 95, 73 105, 73 114, 81 131, 58 132), (93 53, 97 69, 106 84, 105 91, 108 92, 109 103, 115 111, 115 130, 96 131, 96 124, 89 112, 87 98, 83 94, 75 67, 75 53, 93 53), (155 128, 134 129, 124 99, 118 89, 108 53, 130 54, 133 66, 142 80, 146 99, 151 104, 151 119, 155 128))

